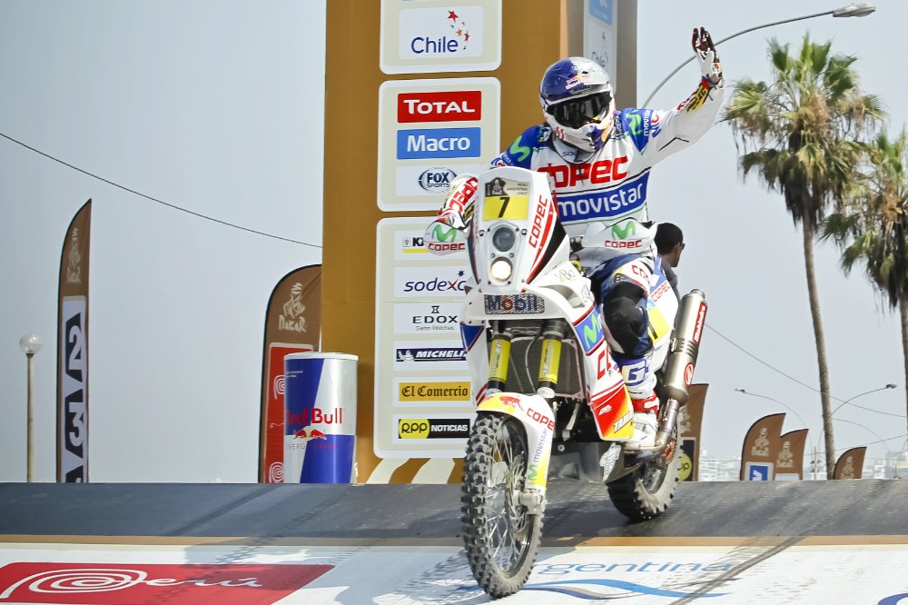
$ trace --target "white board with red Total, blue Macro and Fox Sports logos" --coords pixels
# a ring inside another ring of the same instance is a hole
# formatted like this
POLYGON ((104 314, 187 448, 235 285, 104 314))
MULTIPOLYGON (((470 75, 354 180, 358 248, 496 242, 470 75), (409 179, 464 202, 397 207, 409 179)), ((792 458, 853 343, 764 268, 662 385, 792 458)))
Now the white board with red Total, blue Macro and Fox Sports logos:
POLYGON ((496 78, 394 80, 379 87, 378 205, 438 210, 459 174, 499 149, 496 78))

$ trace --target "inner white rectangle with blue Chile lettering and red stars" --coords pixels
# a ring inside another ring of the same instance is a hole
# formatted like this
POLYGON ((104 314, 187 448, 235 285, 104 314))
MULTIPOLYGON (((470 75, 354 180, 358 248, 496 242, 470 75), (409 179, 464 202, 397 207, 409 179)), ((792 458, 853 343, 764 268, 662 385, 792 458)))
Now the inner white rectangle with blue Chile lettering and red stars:
POLYGON ((401 59, 482 55, 482 7, 400 11, 401 59))

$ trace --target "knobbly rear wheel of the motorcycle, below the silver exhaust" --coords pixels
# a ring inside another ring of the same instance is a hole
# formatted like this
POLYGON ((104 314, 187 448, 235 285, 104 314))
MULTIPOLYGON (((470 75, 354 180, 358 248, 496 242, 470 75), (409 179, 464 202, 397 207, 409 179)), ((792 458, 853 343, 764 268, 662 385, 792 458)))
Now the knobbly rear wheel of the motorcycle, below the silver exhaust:
POLYGON ((675 498, 680 463, 681 457, 675 447, 671 460, 659 456, 609 482, 608 497, 615 508, 632 521, 658 517, 675 498))

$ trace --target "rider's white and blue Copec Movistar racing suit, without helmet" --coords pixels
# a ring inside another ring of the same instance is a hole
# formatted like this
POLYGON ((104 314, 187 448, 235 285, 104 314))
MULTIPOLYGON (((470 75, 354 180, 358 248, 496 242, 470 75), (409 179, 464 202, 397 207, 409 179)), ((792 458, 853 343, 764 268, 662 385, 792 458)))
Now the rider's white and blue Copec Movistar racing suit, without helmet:
MULTIPOLYGON (((584 236, 576 259, 602 305, 609 346, 621 367, 635 412, 655 412, 656 368, 646 297, 656 263, 656 227, 647 223, 650 168, 694 144, 709 130, 722 104, 724 81, 704 77, 675 109, 615 112, 611 135, 593 153, 558 140, 548 124, 528 128, 492 166, 519 166, 548 173, 568 236, 584 236)), ((461 175, 451 185, 439 218, 426 230, 429 250, 445 253, 457 229, 469 226, 476 178, 461 175)))

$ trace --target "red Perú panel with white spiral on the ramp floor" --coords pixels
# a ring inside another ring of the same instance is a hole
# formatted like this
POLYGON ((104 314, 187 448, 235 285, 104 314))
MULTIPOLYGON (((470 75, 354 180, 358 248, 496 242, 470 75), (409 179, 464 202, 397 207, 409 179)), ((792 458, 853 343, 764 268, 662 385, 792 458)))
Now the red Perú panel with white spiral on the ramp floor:
POLYGON ((0 602, 267 605, 333 565, 36 563, 0 567, 0 602))

